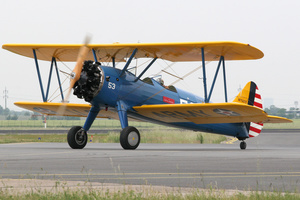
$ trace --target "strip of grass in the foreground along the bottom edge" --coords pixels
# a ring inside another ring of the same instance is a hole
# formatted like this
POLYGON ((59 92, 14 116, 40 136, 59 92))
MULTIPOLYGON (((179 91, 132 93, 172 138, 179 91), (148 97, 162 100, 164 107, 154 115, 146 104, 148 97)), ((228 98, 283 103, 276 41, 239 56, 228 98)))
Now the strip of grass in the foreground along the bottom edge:
POLYGON ((211 200, 296 200, 300 199, 299 194, 289 193, 277 193, 277 192, 250 192, 249 194, 243 194, 241 192, 235 192, 234 194, 227 194, 226 192, 210 191, 194 191, 191 193, 158 193, 158 192, 136 192, 133 190, 120 190, 116 192, 110 192, 109 190, 70 190, 64 189, 62 192, 48 192, 33 189, 30 192, 23 192, 18 194, 10 194, 5 191, 0 191, 0 199, 18 199, 18 200, 40 200, 40 199, 53 199, 53 200, 64 200, 64 199, 105 199, 105 200, 196 200, 196 199, 211 199, 211 200))

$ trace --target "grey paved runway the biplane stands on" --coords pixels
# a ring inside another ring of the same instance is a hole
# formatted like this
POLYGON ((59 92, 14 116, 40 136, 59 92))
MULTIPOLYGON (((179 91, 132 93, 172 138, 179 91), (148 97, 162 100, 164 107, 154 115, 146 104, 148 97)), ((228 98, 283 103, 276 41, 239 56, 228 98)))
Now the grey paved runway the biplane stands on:
POLYGON ((0 145, 2 179, 74 180, 171 187, 300 191, 300 133, 263 132, 233 144, 0 145))

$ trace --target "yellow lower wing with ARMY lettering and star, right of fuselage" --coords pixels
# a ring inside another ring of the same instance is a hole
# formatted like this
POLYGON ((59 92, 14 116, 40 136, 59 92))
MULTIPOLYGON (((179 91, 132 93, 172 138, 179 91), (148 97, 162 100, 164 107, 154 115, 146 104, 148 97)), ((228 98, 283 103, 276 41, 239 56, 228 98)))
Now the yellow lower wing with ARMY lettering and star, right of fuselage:
POLYGON ((263 122, 268 119, 262 109, 241 103, 143 105, 133 109, 140 115, 167 123, 214 124, 263 122))

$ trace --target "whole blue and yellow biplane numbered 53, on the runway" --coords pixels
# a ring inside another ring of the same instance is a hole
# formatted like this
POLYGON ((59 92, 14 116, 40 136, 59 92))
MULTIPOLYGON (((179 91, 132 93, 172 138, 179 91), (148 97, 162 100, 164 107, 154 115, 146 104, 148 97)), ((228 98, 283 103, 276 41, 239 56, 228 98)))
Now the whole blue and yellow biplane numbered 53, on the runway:
POLYGON ((258 87, 250 81, 232 102, 227 99, 225 61, 260 59, 264 54, 257 48, 238 42, 136 43, 136 44, 5 44, 3 49, 33 58, 43 102, 16 102, 15 105, 44 115, 86 117, 81 126, 67 134, 73 149, 83 149, 87 132, 94 120, 120 120, 120 144, 124 149, 136 149, 140 133, 128 121, 139 120, 193 131, 236 137, 240 148, 246 149, 247 138, 260 134, 263 123, 287 123, 291 120, 270 116, 264 112, 258 87), (132 73, 133 59, 148 58, 140 73, 132 73), (158 59, 170 62, 200 62, 203 72, 203 93, 199 97, 174 85, 165 86, 161 79, 143 77, 158 59), (49 61, 50 73, 44 91, 39 60, 49 61), (70 89, 63 95, 57 61, 76 62, 70 76, 70 89), (206 62, 216 61, 217 68, 208 92, 206 62), (106 63, 106 64, 104 64, 106 63), (117 67, 116 65, 122 67, 117 67), (56 69, 62 102, 48 101, 49 84, 56 69), (212 103, 211 95, 223 68, 224 103, 212 103), (86 104, 68 103, 70 92, 86 104))

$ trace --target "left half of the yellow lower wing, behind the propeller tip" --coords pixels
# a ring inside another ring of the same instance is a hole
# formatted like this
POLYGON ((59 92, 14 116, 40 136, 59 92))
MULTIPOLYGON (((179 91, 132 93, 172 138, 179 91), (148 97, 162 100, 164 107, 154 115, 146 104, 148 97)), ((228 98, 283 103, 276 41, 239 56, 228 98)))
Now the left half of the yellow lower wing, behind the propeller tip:
MULTIPOLYGON (((61 115, 71 117, 86 117, 90 111, 89 104, 75 104, 75 103, 39 103, 39 102, 16 102, 16 106, 38 112, 44 115, 61 115), (63 114, 60 114, 61 107, 63 114)), ((118 119, 118 114, 109 110, 101 110, 97 116, 98 118, 113 118, 118 119)))

